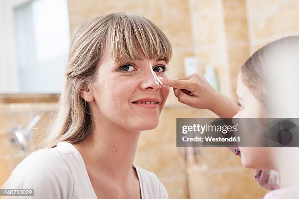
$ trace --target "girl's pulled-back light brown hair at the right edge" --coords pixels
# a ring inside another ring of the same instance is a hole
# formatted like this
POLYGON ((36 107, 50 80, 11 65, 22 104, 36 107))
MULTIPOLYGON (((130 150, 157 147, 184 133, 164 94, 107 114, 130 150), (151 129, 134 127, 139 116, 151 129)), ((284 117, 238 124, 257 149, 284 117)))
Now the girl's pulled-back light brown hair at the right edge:
POLYGON ((278 81, 274 80, 274 74, 286 69, 294 70, 295 67, 299 67, 299 36, 283 38, 265 45, 243 64, 242 81, 262 104, 263 113, 269 113, 272 108, 270 92, 274 91, 274 82, 278 81))

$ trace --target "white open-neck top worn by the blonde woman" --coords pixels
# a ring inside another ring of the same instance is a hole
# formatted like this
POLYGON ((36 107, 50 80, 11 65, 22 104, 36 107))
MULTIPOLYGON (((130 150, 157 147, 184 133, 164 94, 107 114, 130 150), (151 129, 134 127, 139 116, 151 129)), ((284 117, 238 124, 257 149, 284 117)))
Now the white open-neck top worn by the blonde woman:
MULTIPOLYGON (((168 199, 157 176, 136 168, 142 199, 168 199)), ((2 188, 34 189, 34 197, 47 199, 97 199, 84 160, 74 145, 59 142, 51 149, 37 150, 13 170, 2 188)))

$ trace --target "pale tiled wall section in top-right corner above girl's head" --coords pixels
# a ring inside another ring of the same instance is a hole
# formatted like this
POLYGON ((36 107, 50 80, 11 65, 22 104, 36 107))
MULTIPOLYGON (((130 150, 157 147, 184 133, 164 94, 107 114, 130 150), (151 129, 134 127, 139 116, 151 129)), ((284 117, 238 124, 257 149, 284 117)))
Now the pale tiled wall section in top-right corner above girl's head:
POLYGON ((251 53, 271 41, 299 35, 298 0, 247 0, 251 53))

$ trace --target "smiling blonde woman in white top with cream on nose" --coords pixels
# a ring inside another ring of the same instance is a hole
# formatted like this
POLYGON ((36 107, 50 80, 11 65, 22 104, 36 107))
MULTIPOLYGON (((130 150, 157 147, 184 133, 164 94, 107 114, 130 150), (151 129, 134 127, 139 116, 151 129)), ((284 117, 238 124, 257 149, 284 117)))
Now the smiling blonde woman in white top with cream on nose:
POLYGON ((170 59, 169 40, 144 17, 113 13, 82 25, 44 149, 4 187, 33 188, 34 198, 168 198, 157 176, 133 161, 140 132, 157 127, 169 94, 152 71, 166 77, 170 59))

